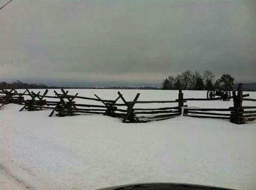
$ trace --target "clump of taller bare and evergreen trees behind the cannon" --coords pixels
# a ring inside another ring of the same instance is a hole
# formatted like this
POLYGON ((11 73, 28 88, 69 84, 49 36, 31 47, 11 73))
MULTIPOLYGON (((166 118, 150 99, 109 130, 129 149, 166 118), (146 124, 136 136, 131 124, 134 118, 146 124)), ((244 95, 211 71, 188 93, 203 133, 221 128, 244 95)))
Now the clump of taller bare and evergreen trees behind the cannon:
POLYGON ((232 89, 234 78, 230 74, 223 74, 215 81, 215 75, 211 71, 204 71, 200 74, 198 71, 192 72, 190 69, 178 74, 177 76, 168 76, 161 83, 161 89, 164 90, 212 90, 212 89, 232 89), (214 83, 214 84, 213 84, 214 83))

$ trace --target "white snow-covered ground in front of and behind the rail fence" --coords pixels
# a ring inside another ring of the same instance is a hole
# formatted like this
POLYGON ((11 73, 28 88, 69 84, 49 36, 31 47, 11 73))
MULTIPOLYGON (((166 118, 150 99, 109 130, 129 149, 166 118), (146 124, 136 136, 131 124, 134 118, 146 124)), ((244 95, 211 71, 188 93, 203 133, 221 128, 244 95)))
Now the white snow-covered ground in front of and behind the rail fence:
MULTIPOLYGON (((69 94, 78 92, 87 97, 97 94, 114 100, 117 91, 69 89, 69 94)), ((132 101, 137 93, 139 100, 178 98, 176 90, 120 92, 127 101, 132 101)), ((183 93, 184 98, 206 97, 205 91, 183 93)), ((256 98, 256 92, 250 92, 250 97, 256 98)), ((228 108, 233 102, 185 104, 228 108)), ((100 115, 48 117, 51 110, 19 112, 21 107, 8 104, 0 110, 0 173, 15 178, 27 189, 96 189, 135 182, 256 189, 255 121, 236 125, 220 119, 179 116, 131 124, 100 115)), ((3 184, 0 180, 0 189, 3 184)))

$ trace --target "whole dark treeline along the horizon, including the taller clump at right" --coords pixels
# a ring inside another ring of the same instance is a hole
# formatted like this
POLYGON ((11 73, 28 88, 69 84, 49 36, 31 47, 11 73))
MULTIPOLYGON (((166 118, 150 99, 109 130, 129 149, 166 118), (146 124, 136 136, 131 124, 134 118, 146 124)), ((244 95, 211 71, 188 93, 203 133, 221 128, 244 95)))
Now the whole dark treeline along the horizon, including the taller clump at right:
MULTIPOLYGON (((230 75, 228 74, 224 74, 223 76, 221 76, 220 79, 218 79, 214 85, 212 83, 213 79, 214 79, 214 74, 210 71, 205 71, 203 76, 200 75, 199 72, 194 72, 192 73, 192 76, 190 76, 188 74, 187 76, 183 76, 184 79, 190 79, 187 80, 187 83, 185 84, 183 81, 183 78, 181 77, 182 75, 187 75, 186 72, 185 74, 180 74, 177 75, 175 78, 173 76, 169 76, 167 79, 163 80, 162 82, 162 86, 161 89, 185 89, 185 85, 187 86, 186 89, 190 89, 190 90, 207 90, 207 89, 218 89, 218 88, 230 88, 229 84, 230 82, 233 84, 234 78, 232 78, 230 75), (199 78, 200 76, 200 78, 199 78), (195 79, 196 78, 196 79, 195 79), (203 81, 202 81, 203 80, 203 81), (194 83, 193 81, 196 81, 196 83, 194 83), (206 82, 205 82, 206 81, 206 82), (225 85, 221 85, 221 83, 225 84, 226 83, 226 87, 225 85)), ((238 84, 234 84, 234 89, 237 89, 238 84)), ((60 89, 60 88, 64 88, 64 89, 152 89, 152 90, 158 90, 160 88, 158 87, 152 87, 152 86, 143 86, 143 87, 126 87, 126 86, 113 86, 113 87, 57 87, 57 86, 46 86, 44 84, 30 84, 30 83, 24 83, 21 82, 19 80, 17 80, 16 82, 12 82, 12 83, 7 83, 7 82, 0 82, 0 88, 2 89, 11 89, 11 88, 15 88, 15 89, 60 89)), ((256 91, 256 83, 244 83, 243 86, 244 90, 248 90, 248 91, 256 91)))

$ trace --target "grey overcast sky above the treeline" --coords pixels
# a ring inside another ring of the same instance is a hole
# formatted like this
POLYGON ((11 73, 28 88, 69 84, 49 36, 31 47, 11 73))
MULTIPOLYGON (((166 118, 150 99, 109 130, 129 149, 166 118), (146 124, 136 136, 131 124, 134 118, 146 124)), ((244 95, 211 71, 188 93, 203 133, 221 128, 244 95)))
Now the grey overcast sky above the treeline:
POLYGON ((256 0, 13 0, 0 10, 0 81, 149 85, 186 69, 256 82, 256 0))

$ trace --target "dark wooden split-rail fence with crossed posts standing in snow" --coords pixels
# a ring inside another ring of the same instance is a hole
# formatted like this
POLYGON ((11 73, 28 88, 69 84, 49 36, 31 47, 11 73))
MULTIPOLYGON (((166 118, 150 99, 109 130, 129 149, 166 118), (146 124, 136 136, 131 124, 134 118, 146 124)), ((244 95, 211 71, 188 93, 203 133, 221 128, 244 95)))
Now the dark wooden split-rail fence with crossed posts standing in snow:
POLYGON ((233 91, 232 96, 234 106, 230 108, 186 108, 184 105, 187 101, 212 101, 222 100, 223 98, 183 98, 183 93, 179 90, 178 99, 174 101, 138 101, 140 94, 138 93, 133 101, 126 101, 124 96, 118 92, 118 97, 115 100, 104 100, 95 94, 96 98, 69 95, 69 91, 61 89, 62 94, 54 91, 55 96, 47 96, 48 89, 41 95, 40 92, 34 93, 26 89, 24 93, 18 93, 17 90, 10 91, 1 89, 0 93, 0 108, 5 104, 16 103, 23 105, 22 110, 37 111, 43 109, 52 109, 50 117, 56 112, 56 116, 74 116, 80 114, 106 115, 122 119, 123 123, 145 123, 150 121, 159 121, 169 119, 181 115, 181 109, 184 107, 183 116, 199 117, 199 118, 218 118, 229 119, 230 122, 236 124, 244 124, 256 119, 256 107, 242 107, 242 101, 256 101, 252 98, 244 98, 249 94, 242 94, 242 84, 239 84, 238 93, 233 91), (29 96, 30 100, 25 100, 24 96, 29 96), (54 98, 56 101, 48 101, 46 98, 54 98), (98 104, 80 104, 76 103, 76 99, 91 100, 101 102, 98 104), (117 103, 118 100, 123 103, 117 103), (136 104, 157 103, 163 105, 165 103, 178 103, 177 106, 165 106, 159 108, 134 108, 136 104), (125 107, 126 109, 124 109, 125 107))

